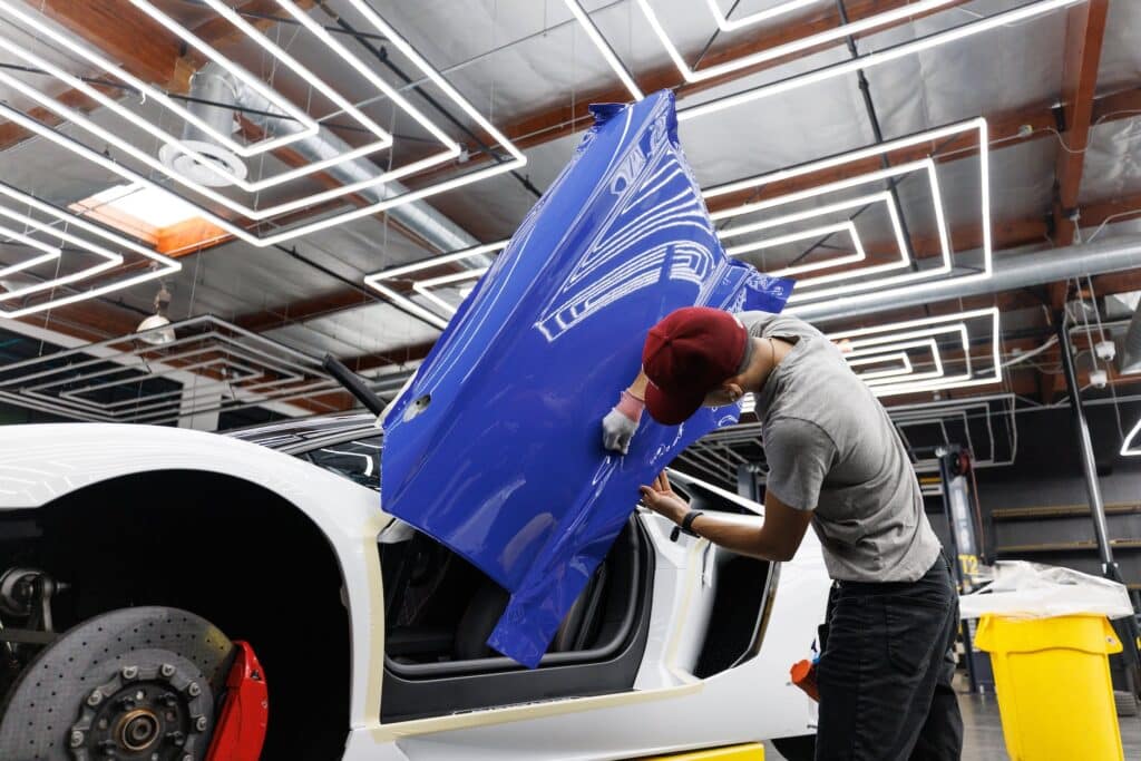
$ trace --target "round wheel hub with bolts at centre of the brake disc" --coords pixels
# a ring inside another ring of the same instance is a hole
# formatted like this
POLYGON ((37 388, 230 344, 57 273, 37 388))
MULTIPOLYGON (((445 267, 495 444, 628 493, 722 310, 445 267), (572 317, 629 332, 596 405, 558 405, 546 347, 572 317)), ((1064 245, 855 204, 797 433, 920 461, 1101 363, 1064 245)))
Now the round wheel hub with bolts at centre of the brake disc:
POLYGON ((127 665, 94 689, 70 730, 75 761, 189 761, 205 745, 211 702, 178 666, 127 665))

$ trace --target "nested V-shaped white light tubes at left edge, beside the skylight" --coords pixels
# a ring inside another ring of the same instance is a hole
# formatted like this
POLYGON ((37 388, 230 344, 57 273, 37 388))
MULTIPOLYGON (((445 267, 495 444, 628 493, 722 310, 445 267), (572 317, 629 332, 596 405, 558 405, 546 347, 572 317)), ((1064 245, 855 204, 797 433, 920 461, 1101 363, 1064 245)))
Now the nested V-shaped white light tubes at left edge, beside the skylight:
POLYGON ((72 293, 68 296, 58 296, 58 297, 54 296, 47 299, 46 301, 31 306, 17 307, 15 309, 6 309, 2 308, 2 306, 0 306, 0 317, 17 318, 17 317, 23 317, 25 315, 35 314, 38 311, 43 311, 46 309, 54 309, 56 307, 62 307, 68 303, 75 303, 78 301, 94 299, 105 293, 111 293, 113 291, 118 291, 124 288, 130 288, 131 285, 137 285, 138 283, 144 283, 146 281, 165 277, 183 268, 181 264, 179 264, 175 259, 169 259, 167 257, 163 257, 162 254, 156 253, 155 251, 138 245, 137 243, 130 241, 129 238, 126 238, 121 235, 116 235, 115 233, 104 227, 94 225, 76 214, 73 214, 63 209, 59 209, 58 207, 40 201, 39 199, 31 196, 22 191, 18 191, 9 185, 5 185, 3 183, 0 183, 0 196, 7 196, 8 199, 13 200, 14 202, 16 202, 16 204, 18 204, 18 208, 24 208, 27 210, 34 209, 41 213, 54 217, 58 222, 63 222, 63 227, 60 228, 57 227, 56 225, 49 225, 42 222, 33 218, 30 211, 19 211, 17 209, 10 209, 5 205, 0 205, 0 217, 18 221, 22 225, 24 225, 25 228, 27 228, 29 230, 34 229, 56 241, 70 243, 100 259, 100 261, 98 261, 97 264, 90 265, 89 267, 86 267, 84 269, 78 270, 75 273, 60 275, 47 280, 42 283, 37 283, 34 285, 30 285, 26 288, 8 291, 7 293, 0 296, 0 301, 11 300, 14 298, 19 298, 24 296, 31 296, 33 293, 54 290, 63 285, 71 285, 73 283, 79 283, 83 280, 95 277, 96 275, 100 275, 110 269, 113 269, 123 262, 123 256, 121 253, 105 249, 104 246, 95 243, 94 241, 87 237, 73 235, 72 233, 67 232, 68 227, 78 228, 87 233, 90 233, 108 242, 116 249, 136 253, 154 262, 151 268, 148 268, 143 273, 132 275, 130 277, 124 277, 118 281, 112 281, 111 283, 104 283, 103 285, 90 288, 80 293, 72 293))

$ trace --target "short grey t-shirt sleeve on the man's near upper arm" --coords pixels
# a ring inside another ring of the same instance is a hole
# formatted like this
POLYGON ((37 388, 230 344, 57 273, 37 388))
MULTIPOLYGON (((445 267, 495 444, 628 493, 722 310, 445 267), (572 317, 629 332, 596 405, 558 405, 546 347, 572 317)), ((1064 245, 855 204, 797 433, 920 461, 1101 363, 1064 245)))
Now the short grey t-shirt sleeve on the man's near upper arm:
POLYGON ((795 510, 815 510, 824 477, 836 458, 832 437, 816 423, 796 418, 774 421, 764 429, 766 488, 795 510))

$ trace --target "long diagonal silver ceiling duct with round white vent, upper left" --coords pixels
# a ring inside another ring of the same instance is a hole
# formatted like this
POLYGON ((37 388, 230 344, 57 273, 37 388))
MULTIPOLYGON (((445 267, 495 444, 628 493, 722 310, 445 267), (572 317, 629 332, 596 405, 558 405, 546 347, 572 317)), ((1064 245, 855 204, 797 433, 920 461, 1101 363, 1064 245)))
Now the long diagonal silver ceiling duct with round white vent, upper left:
MULTIPOLYGON (((241 110, 243 119, 267 133, 284 136, 300 132, 305 129, 301 123, 292 119, 275 115, 277 110, 268 98, 251 89, 213 63, 207 64, 194 75, 194 79, 191 82, 191 95, 194 98, 210 100, 211 103, 232 103, 236 108, 241 110)), ((205 113, 209 114, 211 120, 219 120, 218 122, 211 121, 210 123, 212 126, 225 124, 226 131, 230 129, 233 120, 233 112, 230 110, 204 104, 202 107, 208 110, 205 113), (224 118, 225 121, 222 121, 224 118)), ((201 116, 202 114, 199 113, 199 115, 201 116)), ((183 137, 184 141, 186 139, 200 141, 204 136, 199 130, 187 126, 187 130, 184 131, 183 137)), ((203 147, 197 144, 195 144, 194 147, 200 153, 209 154, 211 157, 217 155, 220 151, 220 148, 212 143, 208 144, 208 151, 203 151, 203 147)), ((290 149, 307 161, 315 163, 345 155, 354 148, 348 143, 333 135, 330 130, 322 128, 319 132, 311 137, 291 143, 290 149)), ((197 162, 194 162, 186 156, 185 153, 178 152, 177 149, 171 153, 176 154, 173 157, 175 161, 181 160, 183 163, 171 163, 168 161, 165 155, 163 155, 162 159, 168 165, 173 167, 177 171, 183 172, 184 175, 187 171, 201 171, 205 175, 212 175, 215 184, 219 183, 217 172, 197 167, 197 162), (184 167, 187 165, 189 165, 189 169, 184 169, 184 167)), ((244 172, 244 170, 245 168, 243 165, 242 171, 244 172)), ((367 159, 354 159, 351 161, 335 163, 325 169, 324 173, 343 185, 351 185, 354 183, 367 183, 378 175, 382 175, 383 170, 367 159)), ((199 176, 195 176, 195 179, 202 181, 199 176)), ((375 203, 398 195, 404 195, 408 192, 410 191, 406 186, 397 183, 396 180, 391 180, 381 185, 365 187, 357 191, 356 195, 364 196, 371 203, 375 203)), ((440 252, 469 249, 471 246, 479 245, 480 243, 462 227, 436 211, 423 201, 412 201, 410 203, 393 207, 387 211, 387 213, 403 227, 420 236, 440 252)), ((491 260, 486 257, 472 257, 458 264, 461 264, 464 267, 476 268, 485 267, 489 264, 489 261, 491 260)))

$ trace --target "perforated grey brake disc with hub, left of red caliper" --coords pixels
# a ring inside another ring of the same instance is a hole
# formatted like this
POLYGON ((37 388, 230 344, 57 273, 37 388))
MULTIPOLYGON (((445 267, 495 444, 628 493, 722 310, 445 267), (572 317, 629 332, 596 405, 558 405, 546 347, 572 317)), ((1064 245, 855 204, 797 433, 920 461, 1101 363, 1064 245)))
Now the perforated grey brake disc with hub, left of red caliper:
POLYGON ((185 610, 124 608, 90 618, 44 648, 9 690, 0 759, 200 761, 234 653, 220 631, 185 610))

